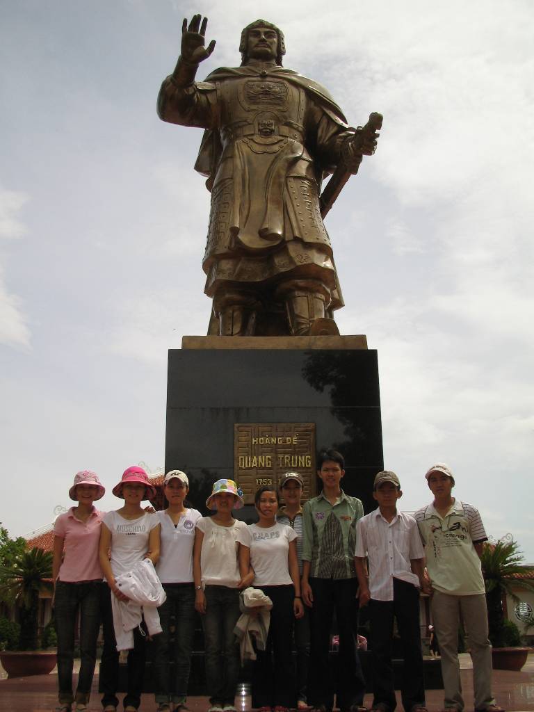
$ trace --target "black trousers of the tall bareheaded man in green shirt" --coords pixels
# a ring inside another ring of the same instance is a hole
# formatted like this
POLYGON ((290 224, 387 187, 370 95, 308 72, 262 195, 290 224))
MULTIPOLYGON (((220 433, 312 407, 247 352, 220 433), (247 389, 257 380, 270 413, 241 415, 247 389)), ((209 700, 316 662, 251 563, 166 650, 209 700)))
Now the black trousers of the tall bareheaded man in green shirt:
POLYGON ((337 707, 345 712, 352 705, 362 705, 365 694, 365 680, 354 634, 358 615, 358 582, 356 578, 310 578, 310 586, 313 592, 313 608, 310 611, 308 703, 314 707, 324 705, 331 710, 334 706, 334 693, 337 693, 337 707), (334 611, 340 636, 337 684, 330 674, 328 664, 334 611))

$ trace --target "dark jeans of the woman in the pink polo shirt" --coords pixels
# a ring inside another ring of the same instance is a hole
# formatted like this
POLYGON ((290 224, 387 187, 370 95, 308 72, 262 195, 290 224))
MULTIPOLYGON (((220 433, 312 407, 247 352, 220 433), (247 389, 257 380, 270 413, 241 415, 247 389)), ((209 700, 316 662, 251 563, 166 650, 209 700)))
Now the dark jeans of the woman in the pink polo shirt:
POLYGON ((73 701, 87 704, 93 684, 96 642, 100 629, 101 581, 56 583, 54 611, 58 634, 59 703, 73 701), (80 673, 73 696, 74 635, 80 614, 80 673))

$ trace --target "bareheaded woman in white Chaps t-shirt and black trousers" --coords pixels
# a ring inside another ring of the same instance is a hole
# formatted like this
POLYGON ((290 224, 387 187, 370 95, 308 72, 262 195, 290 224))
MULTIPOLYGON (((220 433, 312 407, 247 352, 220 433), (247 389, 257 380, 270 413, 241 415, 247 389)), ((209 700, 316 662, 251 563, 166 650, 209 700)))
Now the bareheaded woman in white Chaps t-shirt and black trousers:
POLYGON ((258 650, 252 678, 252 706, 261 712, 288 712, 296 706, 293 622, 304 614, 300 599, 297 535, 276 521, 279 498, 273 485, 254 496, 258 523, 248 525, 254 588, 273 602, 266 649, 258 650), (274 664, 273 664, 274 658, 274 664))

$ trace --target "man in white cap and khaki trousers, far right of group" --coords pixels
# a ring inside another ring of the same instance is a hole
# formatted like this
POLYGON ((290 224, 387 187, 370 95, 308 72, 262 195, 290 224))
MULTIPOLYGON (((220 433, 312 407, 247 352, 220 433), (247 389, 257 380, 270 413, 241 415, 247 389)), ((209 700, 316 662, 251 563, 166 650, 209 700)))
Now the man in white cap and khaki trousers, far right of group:
POLYGON ((425 477, 434 501, 419 509, 415 519, 433 592, 431 610, 441 651, 445 711, 464 709, 458 661, 462 619, 473 659, 475 711, 503 712, 491 693, 491 644, 480 562, 488 537, 476 508, 451 495, 454 476, 449 466, 433 465, 425 477))

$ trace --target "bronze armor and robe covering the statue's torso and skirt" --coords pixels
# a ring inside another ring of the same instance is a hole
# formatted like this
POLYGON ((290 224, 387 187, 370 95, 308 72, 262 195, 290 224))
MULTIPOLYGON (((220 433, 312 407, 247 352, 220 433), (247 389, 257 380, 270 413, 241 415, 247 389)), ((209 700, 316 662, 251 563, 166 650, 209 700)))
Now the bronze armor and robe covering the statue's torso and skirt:
POLYGON ((304 145, 310 98, 280 76, 205 86, 210 94, 215 89, 222 145, 211 184, 206 293, 213 296, 228 281, 304 276, 328 287, 335 308, 332 248, 319 211, 321 171, 304 145))

